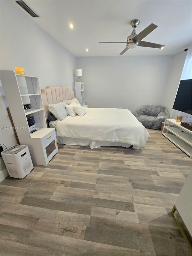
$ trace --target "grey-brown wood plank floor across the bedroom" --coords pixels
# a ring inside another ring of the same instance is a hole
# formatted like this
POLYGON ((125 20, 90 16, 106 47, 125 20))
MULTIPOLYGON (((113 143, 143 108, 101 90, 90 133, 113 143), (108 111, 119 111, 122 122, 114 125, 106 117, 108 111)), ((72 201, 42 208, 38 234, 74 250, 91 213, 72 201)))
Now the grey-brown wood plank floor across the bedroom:
POLYGON ((189 256, 171 215, 191 159, 161 131, 139 150, 59 145, 0 183, 1 256, 189 256))

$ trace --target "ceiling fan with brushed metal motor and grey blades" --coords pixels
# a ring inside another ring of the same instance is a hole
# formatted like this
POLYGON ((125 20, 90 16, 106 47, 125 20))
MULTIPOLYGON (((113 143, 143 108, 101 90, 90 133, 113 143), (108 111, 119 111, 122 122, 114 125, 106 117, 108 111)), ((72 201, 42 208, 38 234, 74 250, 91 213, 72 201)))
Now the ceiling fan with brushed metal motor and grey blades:
POLYGON ((150 43, 150 42, 141 41, 144 37, 149 35, 149 33, 151 33, 158 26, 151 23, 148 27, 143 29, 143 31, 141 31, 137 35, 135 28, 137 28, 139 23, 140 23, 140 20, 138 20, 138 19, 131 20, 131 26, 133 27, 133 31, 131 32, 131 35, 128 36, 127 42, 99 42, 99 43, 124 43, 124 44, 127 43, 127 46, 125 47, 125 49, 119 55, 122 55, 128 49, 133 49, 133 48, 136 48, 137 46, 162 49, 164 47, 164 45, 162 45, 162 44, 154 44, 154 43, 150 43))

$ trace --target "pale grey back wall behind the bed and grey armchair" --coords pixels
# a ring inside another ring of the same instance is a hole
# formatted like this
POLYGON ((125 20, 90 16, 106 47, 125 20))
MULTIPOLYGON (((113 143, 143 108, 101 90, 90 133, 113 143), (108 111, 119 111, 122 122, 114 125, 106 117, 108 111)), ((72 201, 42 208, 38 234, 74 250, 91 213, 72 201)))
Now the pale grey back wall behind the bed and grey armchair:
POLYGON ((89 107, 161 105, 173 56, 77 57, 89 107))

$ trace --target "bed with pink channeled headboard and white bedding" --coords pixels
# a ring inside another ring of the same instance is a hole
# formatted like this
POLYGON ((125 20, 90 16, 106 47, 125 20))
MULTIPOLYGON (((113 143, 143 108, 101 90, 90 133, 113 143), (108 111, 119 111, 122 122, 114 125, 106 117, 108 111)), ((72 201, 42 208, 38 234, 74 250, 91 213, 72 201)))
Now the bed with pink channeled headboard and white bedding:
MULTIPOLYGON (((48 104, 70 102, 74 92, 69 87, 49 86, 41 90, 46 119, 48 104)), ((74 102, 73 102, 74 103, 74 102)), ((49 105, 50 106, 50 105, 49 105)), ((128 109, 84 108, 83 116, 67 115, 63 120, 49 122, 55 128, 60 144, 90 146, 122 146, 139 149, 143 147, 149 133, 128 109)))

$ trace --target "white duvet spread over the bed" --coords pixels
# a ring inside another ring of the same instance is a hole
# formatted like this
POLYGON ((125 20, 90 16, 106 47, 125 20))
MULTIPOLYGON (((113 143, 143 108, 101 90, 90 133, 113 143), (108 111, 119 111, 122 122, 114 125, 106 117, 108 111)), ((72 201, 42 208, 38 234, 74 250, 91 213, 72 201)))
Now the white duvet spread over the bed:
POLYGON ((56 122, 57 136, 121 142, 138 149, 149 133, 128 109, 85 108, 84 116, 66 116, 56 122))

